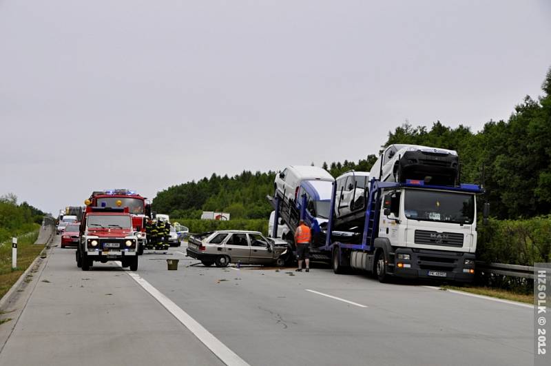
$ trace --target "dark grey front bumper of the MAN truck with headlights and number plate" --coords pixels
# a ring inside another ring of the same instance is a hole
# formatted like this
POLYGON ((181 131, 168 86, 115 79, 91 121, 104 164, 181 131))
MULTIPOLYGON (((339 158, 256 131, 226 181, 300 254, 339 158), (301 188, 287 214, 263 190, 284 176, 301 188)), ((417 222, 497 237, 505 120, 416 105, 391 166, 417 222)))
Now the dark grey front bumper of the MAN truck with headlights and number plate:
POLYGON ((472 282, 475 279, 475 254, 397 248, 392 267, 393 275, 402 278, 472 282))

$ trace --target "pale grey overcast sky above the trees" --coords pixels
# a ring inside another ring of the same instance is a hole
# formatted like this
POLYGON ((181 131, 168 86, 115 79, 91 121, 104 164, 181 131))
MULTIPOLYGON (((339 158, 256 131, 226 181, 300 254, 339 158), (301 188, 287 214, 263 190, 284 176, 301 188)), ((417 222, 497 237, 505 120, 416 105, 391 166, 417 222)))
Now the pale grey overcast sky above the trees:
POLYGON ((0 194, 56 214, 477 131, 541 94, 550 39, 548 0, 0 0, 0 194))

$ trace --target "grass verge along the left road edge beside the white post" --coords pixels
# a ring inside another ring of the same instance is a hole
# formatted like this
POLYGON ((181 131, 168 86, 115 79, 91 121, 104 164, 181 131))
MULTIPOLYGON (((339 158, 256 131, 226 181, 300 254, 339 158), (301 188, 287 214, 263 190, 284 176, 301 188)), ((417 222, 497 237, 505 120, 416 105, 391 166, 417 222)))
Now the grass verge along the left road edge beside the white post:
POLYGON ((19 237, 17 243, 17 268, 12 270, 12 245, 0 246, 0 298, 9 291, 19 276, 27 270, 34 258, 42 251, 44 245, 34 245, 39 232, 19 237))

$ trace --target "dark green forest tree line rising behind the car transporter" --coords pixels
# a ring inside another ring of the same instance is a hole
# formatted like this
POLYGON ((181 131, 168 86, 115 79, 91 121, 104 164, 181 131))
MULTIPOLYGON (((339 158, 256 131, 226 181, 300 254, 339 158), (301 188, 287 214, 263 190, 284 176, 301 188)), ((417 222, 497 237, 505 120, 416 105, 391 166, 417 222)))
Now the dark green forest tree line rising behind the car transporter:
MULTIPOLYGON (((551 210, 551 70, 543 95, 526 96, 508 121, 489 121, 479 132, 465 125, 451 128, 440 121, 429 128, 404 123, 388 132, 382 149, 393 143, 427 145, 457 150, 461 182, 484 185, 484 197, 499 219, 529 218, 551 210)), ((380 153, 380 152, 378 152, 380 153)), ((333 176, 347 170, 369 171, 377 160, 368 154, 357 162, 323 163, 333 176)), ((157 212, 199 218, 202 211, 229 212, 231 218, 268 218, 275 172, 244 170, 168 187, 152 202, 157 212)))

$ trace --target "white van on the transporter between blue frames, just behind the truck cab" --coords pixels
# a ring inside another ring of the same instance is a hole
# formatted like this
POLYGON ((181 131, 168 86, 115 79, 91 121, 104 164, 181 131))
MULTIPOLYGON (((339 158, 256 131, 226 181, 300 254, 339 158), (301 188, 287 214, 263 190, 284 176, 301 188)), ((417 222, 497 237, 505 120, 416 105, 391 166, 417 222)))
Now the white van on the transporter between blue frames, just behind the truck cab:
POLYGON ((365 210, 369 189, 369 173, 350 170, 338 176, 335 200, 335 216, 344 217, 352 212, 365 210))

